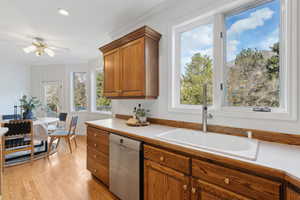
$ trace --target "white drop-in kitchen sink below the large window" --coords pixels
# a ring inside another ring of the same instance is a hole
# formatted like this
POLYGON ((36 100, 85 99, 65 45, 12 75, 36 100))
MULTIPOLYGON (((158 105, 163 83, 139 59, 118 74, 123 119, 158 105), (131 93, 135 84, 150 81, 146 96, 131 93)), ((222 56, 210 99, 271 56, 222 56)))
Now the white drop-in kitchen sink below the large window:
POLYGON ((249 160, 256 160, 259 144, 256 139, 187 129, 175 129, 157 137, 170 142, 249 160))

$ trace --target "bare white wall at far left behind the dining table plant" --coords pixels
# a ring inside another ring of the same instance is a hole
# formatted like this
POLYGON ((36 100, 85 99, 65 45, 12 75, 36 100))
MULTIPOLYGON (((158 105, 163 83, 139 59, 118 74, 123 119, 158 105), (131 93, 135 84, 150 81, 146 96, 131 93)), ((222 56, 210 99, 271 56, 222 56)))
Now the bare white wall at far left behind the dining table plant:
POLYGON ((13 114, 23 94, 30 94, 30 67, 0 63, 0 115, 13 114))

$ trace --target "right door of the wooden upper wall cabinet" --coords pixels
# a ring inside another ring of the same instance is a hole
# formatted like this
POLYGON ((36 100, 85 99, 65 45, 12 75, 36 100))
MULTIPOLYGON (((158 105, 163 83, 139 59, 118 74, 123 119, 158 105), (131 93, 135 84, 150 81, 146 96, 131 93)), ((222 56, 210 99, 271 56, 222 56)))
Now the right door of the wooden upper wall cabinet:
POLYGON ((145 96, 145 39, 132 41, 120 48, 122 96, 145 96))

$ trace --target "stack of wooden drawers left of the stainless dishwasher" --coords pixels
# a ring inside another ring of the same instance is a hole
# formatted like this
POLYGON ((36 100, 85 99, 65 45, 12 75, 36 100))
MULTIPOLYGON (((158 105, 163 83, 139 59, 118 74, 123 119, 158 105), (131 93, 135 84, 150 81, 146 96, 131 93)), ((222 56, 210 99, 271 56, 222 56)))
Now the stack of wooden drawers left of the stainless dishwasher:
POLYGON ((105 185, 109 184, 109 133, 87 128, 87 169, 105 185))

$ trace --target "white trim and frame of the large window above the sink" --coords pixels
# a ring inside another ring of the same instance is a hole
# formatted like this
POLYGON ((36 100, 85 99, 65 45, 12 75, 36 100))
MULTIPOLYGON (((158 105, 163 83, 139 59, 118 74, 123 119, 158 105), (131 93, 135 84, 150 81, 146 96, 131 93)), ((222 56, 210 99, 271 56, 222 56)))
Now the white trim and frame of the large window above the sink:
MULTIPOLYGON (((168 110, 170 112, 180 112, 188 114, 201 114, 201 105, 182 105, 179 104, 180 100, 180 56, 178 53, 180 48, 178 48, 178 43, 176 44, 176 37, 178 31, 186 30, 190 27, 195 27, 204 24, 207 19, 211 19, 214 16, 214 61, 213 61, 213 73, 214 73, 214 88, 213 88, 213 106, 209 108, 216 116, 223 117, 237 117, 237 118, 252 118, 252 119, 275 119, 275 120, 297 120, 297 56, 298 56, 298 22, 297 22, 297 8, 298 0, 281 0, 281 16, 282 16, 282 33, 281 37, 285 38, 281 42, 281 58, 282 69, 287 69, 284 73, 284 82, 281 87, 284 87, 285 109, 273 109, 270 113, 254 112, 249 108, 235 108, 235 107, 223 107, 223 91, 220 90, 219 86, 223 83, 223 67, 217 68, 216 66, 224 66, 224 43, 219 37, 219 33, 224 31, 222 27, 224 15, 220 13, 227 13, 230 10, 242 7, 243 5, 253 3, 254 0, 240 0, 225 6, 219 6, 217 9, 212 6, 210 11, 204 11, 203 15, 193 18, 192 20, 184 20, 181 23, 170 24, 169 25, 169 63, 171 65, 171 70, 169 73, 169 84, 171 91, 168 96, 168 110), (220 24, 221 23, 221 24, 220 24), (283 48, 285 47, 285 48, 283 48), (177 49, 177 51, 176 51, 177 49), (215 49, 223 49, 223 51, 215 51, 215 49), (285 66, 290 66, 286 68, 285 66)), ((200 12, 201 13, 201 12, 200 12)), ((190 28, 191 29, 191 28, 190 28)), ((281 70, 282 71, 282 70, 281 70)), ((281 75, 282 76, 282 75, 281 75)), ((282 78, 282 77, 281 77, 282 78)), ((281 90, 282 91, 282 90, 281 90)))

